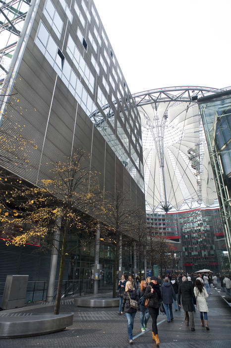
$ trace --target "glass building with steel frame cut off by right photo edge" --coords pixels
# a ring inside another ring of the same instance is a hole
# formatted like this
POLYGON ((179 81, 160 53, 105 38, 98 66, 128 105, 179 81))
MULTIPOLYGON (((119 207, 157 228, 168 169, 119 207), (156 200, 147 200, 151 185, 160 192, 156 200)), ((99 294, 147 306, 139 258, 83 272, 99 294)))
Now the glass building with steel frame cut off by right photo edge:
POLYGON ((231 90, 198 99, 231 265, 231 90))

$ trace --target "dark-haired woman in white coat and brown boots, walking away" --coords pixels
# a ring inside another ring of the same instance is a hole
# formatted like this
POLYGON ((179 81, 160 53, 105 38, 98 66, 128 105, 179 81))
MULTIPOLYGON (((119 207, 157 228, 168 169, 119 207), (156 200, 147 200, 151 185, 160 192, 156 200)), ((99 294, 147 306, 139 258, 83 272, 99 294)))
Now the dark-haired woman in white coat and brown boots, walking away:
POLYGON ((208 309, 208 305, 206 301, 206 298, 209 297, 209 295, 206 289, 204 288, 203 284, 201 283, 201 281, 198 279, 196 279, 195 281, 194 295, 196 297, 197 309, 200 312, 201 326, 205 326, 206 330, 209 330, 208 314, 207 314, 209 309, 208 309))

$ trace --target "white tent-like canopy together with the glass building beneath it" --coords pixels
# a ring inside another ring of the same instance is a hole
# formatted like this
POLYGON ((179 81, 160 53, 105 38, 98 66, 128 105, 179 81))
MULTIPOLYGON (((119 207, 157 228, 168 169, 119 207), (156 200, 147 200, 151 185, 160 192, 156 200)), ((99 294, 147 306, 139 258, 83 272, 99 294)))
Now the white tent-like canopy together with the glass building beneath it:
POLYGON ((182 86, 133 95, 142 124, 147 225, 153 234, 180 245, 177 248, 186 271, 229 269, 227 248, 221 241, 224 230, 216 183, 197 104, 198 97, 203 100, 220 91, 182 86))

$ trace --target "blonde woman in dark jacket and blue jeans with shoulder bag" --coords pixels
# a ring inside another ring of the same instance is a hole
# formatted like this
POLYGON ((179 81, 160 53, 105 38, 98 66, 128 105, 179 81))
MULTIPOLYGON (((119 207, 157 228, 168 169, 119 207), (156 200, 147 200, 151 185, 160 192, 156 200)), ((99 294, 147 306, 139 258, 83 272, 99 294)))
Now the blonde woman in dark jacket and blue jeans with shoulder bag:
POLYGON ((132 285, 131 281, 127 281, 125 285, 125 291, 123 294, 123 302, 122 302, 122 308, 121 308, 121 314, 123 312, 125 313, 125 316, 127 318, 127 333, 128 333, 128 339, 129 344, 132 345, 132 330, 133 330, 133 323, 135 319, 136 309, 131 308, 130 305, 130 299, 139 301, 138 295, 132 285))

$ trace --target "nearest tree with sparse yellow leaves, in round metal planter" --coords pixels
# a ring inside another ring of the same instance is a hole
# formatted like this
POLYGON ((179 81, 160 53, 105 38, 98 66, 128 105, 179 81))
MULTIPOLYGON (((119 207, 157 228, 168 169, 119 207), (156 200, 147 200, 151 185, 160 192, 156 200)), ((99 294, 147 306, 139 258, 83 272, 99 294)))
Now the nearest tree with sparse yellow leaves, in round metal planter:
POLYGON ((14 186, 3 193, 0 221, 4 225, 15 223, 19 226, 11 243, 24 245, 31 238, 45 241, 51 230, 59 231, 60 268, 55 314, 60 307, 68 235, 80 230, 89 233, 101 211, 101 202, 98 173, 89 169, 83 150, 56 164, 50 178, 42 180, 41 187, 14 186))

